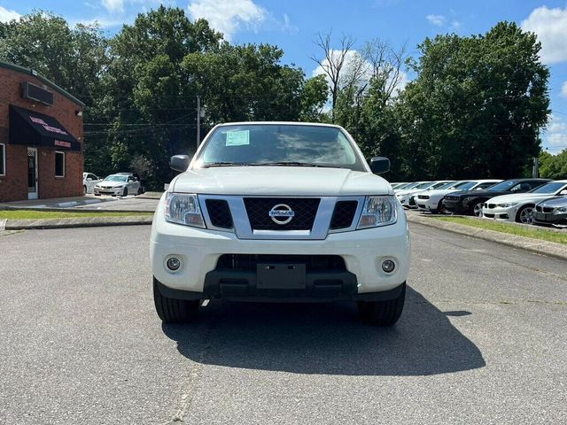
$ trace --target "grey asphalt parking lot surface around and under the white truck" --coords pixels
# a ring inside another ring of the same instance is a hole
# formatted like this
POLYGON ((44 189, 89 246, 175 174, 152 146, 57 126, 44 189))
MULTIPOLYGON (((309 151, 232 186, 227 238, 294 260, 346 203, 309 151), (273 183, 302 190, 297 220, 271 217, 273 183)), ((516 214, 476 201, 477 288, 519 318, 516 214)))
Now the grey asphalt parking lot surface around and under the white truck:
POLYGON ((162 326, 149 233, 0 236, 0 423, 565 423, 562 260, 412 224, 394 328, 348 303, 162 326))

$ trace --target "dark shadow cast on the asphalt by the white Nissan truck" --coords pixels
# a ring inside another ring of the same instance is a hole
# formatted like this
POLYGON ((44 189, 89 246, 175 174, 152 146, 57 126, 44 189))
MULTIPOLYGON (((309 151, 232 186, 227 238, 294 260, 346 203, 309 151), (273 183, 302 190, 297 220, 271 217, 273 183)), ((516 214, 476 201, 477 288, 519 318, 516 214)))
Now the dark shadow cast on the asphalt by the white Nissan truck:
MULTIPOLYGON (((469 312, 460 313, 454 320, 469 320, 459 317, 469 312)), ((438 375, 485 366, 446 313, 409 287, 393 328, 361 323, 353 303, 211 303, 199 314, 198 323, 163 330, 183 356, 204 364, 325 375, 438 375)))

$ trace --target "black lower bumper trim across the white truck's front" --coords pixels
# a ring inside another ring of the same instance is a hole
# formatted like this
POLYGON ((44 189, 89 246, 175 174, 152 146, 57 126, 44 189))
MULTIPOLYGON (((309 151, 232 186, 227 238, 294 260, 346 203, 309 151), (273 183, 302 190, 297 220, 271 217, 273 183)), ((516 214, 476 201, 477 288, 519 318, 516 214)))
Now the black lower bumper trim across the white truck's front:
MULTIPOLYGON (((225 272, 226 273, 226 272, 225 272)), ((159 292, 167 298, 175 299, 224 299, 229 301, 243 302, 276 302, 276 303, 317 303, 331 301, 385 301, 398 298, 403 289, 401 283, 392 290, 380 292, 357 292, 356 276, 350 272, 340 274, 350 274, 347 281, 339 281, 336 273, 316 273, 307 274, 307 284, 305 290, 258 290, 255 287, 255 274, 253 272, 230 271, 232 277, 226 280, 226 274, 219 271, 209 272, 206 275, 205 288, 203 292, 193 292, 190 290, 175 290, 159 282, 155 277, 159 292), (234 274, 241 274, 238 278, 234 274), (332 279, 330 279, 330 274, 332 279), (225 281, 221 281, 222 276, 225 281), (253 275, 253 284, 252 284, 253 275), (340 282, 340 283, 339 283, 340 282)))

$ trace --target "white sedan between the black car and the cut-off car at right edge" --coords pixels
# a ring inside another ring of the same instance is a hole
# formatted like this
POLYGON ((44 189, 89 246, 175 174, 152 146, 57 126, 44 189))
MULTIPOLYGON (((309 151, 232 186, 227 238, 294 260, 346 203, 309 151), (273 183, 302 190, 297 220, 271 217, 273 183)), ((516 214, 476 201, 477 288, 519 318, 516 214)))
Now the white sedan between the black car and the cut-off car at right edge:
POLYGON ((532 224, 535 205, 548 197, 557 196, 567 196, 567 180, 548 182, 525 193, 493 197, 485 202, 482 215, 485 219, 532 224))

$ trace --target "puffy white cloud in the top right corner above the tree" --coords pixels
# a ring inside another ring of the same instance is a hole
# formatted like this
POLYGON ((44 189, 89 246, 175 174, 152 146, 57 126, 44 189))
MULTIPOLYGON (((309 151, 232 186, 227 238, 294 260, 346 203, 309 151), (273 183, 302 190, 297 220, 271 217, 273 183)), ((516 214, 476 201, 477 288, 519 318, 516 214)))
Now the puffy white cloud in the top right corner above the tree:
POLYGON ((542 62, 555 64, 567 60, 567 8, 538 7, 522 21, 522 28, 538 35, 542 62))

